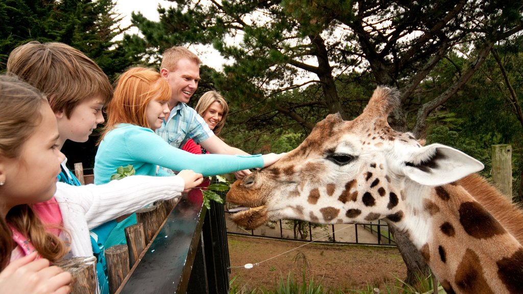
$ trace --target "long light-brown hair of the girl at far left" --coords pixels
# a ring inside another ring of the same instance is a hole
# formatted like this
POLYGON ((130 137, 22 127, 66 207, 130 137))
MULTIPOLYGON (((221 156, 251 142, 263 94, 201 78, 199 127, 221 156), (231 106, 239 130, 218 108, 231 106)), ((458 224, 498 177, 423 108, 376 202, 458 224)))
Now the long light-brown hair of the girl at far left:
MULTIPOLYGON (((0 155, 11 159, 20 156, 25 142, 42 120, 41 107, 48 107, 47 105, 46 97, 35 87, 14 76, 0 75, 0 155)), ((58 236, 46 231, 30 205, 11 208, 5 216, 5 221, 30 239, 44 258, 54 262, 67 253, 65 243, 58 236)), ((6 228, 3 224, 2 227, 0 238, 10 238, 9 241, 2 240, 10 256, 14 248, 12 233, 10 230, 4 232, 6 228)), ((0 266, 4 265, 4 257, 0 257, 0 266)))

